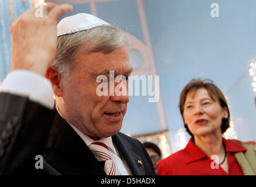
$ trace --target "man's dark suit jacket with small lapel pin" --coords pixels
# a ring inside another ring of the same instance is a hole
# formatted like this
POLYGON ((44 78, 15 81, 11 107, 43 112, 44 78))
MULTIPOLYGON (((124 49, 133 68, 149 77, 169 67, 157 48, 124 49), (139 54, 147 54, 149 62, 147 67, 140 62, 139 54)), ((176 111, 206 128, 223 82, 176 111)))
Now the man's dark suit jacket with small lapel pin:
MULTIPOLYGON (((112 141, 133 175, 155 175, 144 146, 122 133, 112 141)), ((106 175, 100 162, 56 112, 28 98, 0 93, 0 175, 106 175), (35 169, 43 155, 43 169, 35 169)))

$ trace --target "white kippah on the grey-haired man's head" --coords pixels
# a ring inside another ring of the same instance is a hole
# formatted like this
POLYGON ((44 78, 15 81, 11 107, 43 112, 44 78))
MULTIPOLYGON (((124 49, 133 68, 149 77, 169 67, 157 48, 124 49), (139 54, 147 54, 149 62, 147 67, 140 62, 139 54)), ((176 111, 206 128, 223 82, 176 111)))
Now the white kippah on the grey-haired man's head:
POLYGON ((57 36, 88 30, 100 25, 110 25, 104 20, 88 13, 77 13, 60 20, 57 25, 57 36))

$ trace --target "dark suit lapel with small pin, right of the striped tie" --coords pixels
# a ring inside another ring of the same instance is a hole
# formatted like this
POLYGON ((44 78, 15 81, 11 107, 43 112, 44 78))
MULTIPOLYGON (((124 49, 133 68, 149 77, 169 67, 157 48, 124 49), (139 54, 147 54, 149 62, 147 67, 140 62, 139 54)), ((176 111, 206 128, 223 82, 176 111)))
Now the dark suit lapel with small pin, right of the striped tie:
POLYGON ((141 162, 142 159, 132 151, 131 144, 127 140, 124 140, 119 133, 112 136, 112 141, 118 151, 120 151, 122 158, 127 162, 132 175, 145 175, 144 165, 141 162))

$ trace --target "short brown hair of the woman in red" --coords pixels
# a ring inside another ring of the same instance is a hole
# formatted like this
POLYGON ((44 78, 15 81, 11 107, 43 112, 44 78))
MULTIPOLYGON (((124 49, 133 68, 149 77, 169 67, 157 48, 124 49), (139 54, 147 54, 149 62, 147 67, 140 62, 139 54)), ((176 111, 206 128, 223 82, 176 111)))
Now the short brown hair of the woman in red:
POLYGON ((220 91, 220 89, 213 84, 213 81, 211 79, 192 79, 182 90, 180 93, 180 99, 179 99, 179 109, 180 114, 182 115, 182 119, 184 122, 184 126, 187 130, 187 132, 190 134, 190 136, 194 137, 194 135, 191 133, 189 128, 187 127, 187 124, 185 124, 183 112, 184 112, 184 104, 187 98, 188 93, 194 93, 200 88, 205 88, 211 99, 213 101, 218 101, 220 103, 221 108, 227 109, 228 111, 228 118, 222 120, 221 124, 221 133, 224 133, 229 127, 230 127, 230 112, 228 109, 227 101, 223 93, 220 91))

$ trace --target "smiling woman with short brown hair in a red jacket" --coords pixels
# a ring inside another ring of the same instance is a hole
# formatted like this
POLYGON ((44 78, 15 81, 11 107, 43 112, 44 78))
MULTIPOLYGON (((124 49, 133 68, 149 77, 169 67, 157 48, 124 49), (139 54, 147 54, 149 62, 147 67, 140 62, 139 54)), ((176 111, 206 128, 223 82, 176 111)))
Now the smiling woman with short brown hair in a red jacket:
POLYGON ((230 112, 211 80, 192 79, 180 94, 179 108, 192 138, 183 150, 158 162, 158 175, 256 174, 254 153, 222 137, 230 127, 230 112))

